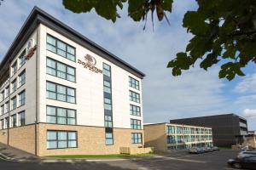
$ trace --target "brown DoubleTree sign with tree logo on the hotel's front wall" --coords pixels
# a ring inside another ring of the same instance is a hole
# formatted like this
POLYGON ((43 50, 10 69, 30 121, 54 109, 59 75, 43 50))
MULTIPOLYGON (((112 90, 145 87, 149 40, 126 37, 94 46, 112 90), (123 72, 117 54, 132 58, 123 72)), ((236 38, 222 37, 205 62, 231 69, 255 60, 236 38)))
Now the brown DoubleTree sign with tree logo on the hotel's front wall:
POLYGON ((96 67, 96 59, 90 54, 86 54, 84 56, 84 61, 79 59, 78 63, 80 65, 83 65, 84 68, 89 69, 90 71, 94 71, 96 73, 102 73, 102 70, 96 67))

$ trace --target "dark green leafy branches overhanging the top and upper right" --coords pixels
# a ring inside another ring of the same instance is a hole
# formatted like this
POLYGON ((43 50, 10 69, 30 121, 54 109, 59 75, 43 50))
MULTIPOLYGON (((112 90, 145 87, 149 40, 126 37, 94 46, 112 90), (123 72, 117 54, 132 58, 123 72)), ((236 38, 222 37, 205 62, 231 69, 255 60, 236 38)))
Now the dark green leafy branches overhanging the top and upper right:
MULTIPOLYGON (((167 67, 173 76, 189 70, 200 62, 207 71, 221 61, 219 78, 232 80, 249 62, 256 64, 256 1, 255 0, 195 0, 198 8, 188 11, 183 17, 183 27, 193 35, 186 50, 177 53, 167 67)), ((74 13, 96 13, 115 22, 118 8, 128 3, 128 14, 134 21, 146 23, 148 14, 158 20, 172 12, 173 0, 63 0, 65 8, 74 13)))

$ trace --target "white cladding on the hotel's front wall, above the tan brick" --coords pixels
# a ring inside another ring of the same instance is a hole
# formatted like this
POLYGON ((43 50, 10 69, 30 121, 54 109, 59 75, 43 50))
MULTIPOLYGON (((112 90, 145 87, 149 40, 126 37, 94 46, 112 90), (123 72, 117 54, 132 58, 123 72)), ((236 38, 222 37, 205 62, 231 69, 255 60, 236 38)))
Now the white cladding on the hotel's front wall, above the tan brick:
POLYGON ((75 109, 77 111, 78 125, 104 127, 104 107, 103 107, 103 75, 84 68, 78 63, 78 59, 84 61, 84 56, 90 54, 96 59, 96 67, 102 70, 102 63, 111 66, 112 72, 112 98, 113 98, 113 127, 131 128, 131 118, 142 121, 143 126, 143 98, 142 98, 142 81, 130 72, 125 71, 117 65, 103 59, 101 56, 92 53, 87 48, 80 46, 67 37, 49 29, 44 25, 40 25, 40 104, 39 122, 46 122, 46 105, 55 105, 64 108, 75 109), (65 59, 58 54, 54 54, 46 50, 46 35, 50 34, 63 42, 76 48, 76 62, 65 59), (68 82, 58 77, 46 74, 46 56, 61 61, 67 65, 76 68, 76 82, 68 82), (129 87, 129 76, 134 77, 140 82, 140 91, 129 87), (71 88, 76 88, 76 104, 46 99, 46 81, 56 82, 71 88), (141 104, 130 101, 129 90, 133 90, 140 94, 141 104), (142 116, 130 115, 130 104, 141 107, 142 116))

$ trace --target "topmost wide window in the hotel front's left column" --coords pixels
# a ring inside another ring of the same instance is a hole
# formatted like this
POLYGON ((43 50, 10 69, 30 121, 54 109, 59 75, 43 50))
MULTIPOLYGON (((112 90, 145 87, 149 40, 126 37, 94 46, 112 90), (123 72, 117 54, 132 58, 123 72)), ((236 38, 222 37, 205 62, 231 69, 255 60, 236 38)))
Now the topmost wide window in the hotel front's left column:
POLYGON ((65 42, 58 40, 55 37, 47 35, 46 37, 47 49, 55 54, 59 54, 66 59, 70 59, 72 61, 76 60, 75 57, 75 48, 71 47, 65 42))

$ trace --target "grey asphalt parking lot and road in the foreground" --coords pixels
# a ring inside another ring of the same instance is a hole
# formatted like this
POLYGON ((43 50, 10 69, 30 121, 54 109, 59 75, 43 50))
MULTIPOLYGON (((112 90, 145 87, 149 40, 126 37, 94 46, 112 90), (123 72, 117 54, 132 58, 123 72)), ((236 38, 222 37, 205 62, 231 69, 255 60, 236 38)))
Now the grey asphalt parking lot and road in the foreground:
POLYGON ((235 157, 237 151, 221 150, 218 152, 204 153, 200 155, 190 155, 186 152, 172 152, 163 157, 156 158, 141 158, 137 160, 123 160, 123 161, 88 161, 88 162, 69 162, 69 163, 20 163, 13 161, 4 161, 0 159, 0 167, 4 170, 48 170, 48 169, 102 169, 102 170, 123 170, 123 169, 137 169, 137 170, 218 170, 218 169, 232 169, 227 167, 227 160, 235 157))

